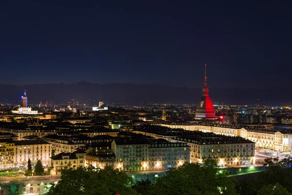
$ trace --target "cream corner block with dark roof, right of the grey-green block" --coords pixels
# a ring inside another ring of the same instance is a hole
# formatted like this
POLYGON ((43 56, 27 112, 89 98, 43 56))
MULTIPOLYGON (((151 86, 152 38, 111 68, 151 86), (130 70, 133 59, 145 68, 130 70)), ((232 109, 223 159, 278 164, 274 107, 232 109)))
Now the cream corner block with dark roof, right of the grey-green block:
POLYGON ((187 143, 191 147, 191 162, 209 158, 218 160, 220 166, 255 164, 255 143, 242 137, 225 137, 213 133, 190 134, 175 137, 173 141, 187 143))

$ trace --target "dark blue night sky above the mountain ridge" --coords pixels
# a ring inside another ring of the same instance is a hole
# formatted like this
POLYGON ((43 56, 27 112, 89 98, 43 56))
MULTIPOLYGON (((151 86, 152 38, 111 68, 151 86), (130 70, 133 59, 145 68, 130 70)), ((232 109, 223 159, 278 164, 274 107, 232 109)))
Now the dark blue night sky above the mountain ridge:
POLYGON ((291 3, 7 2, 0 83, 292 85, 291 3))

